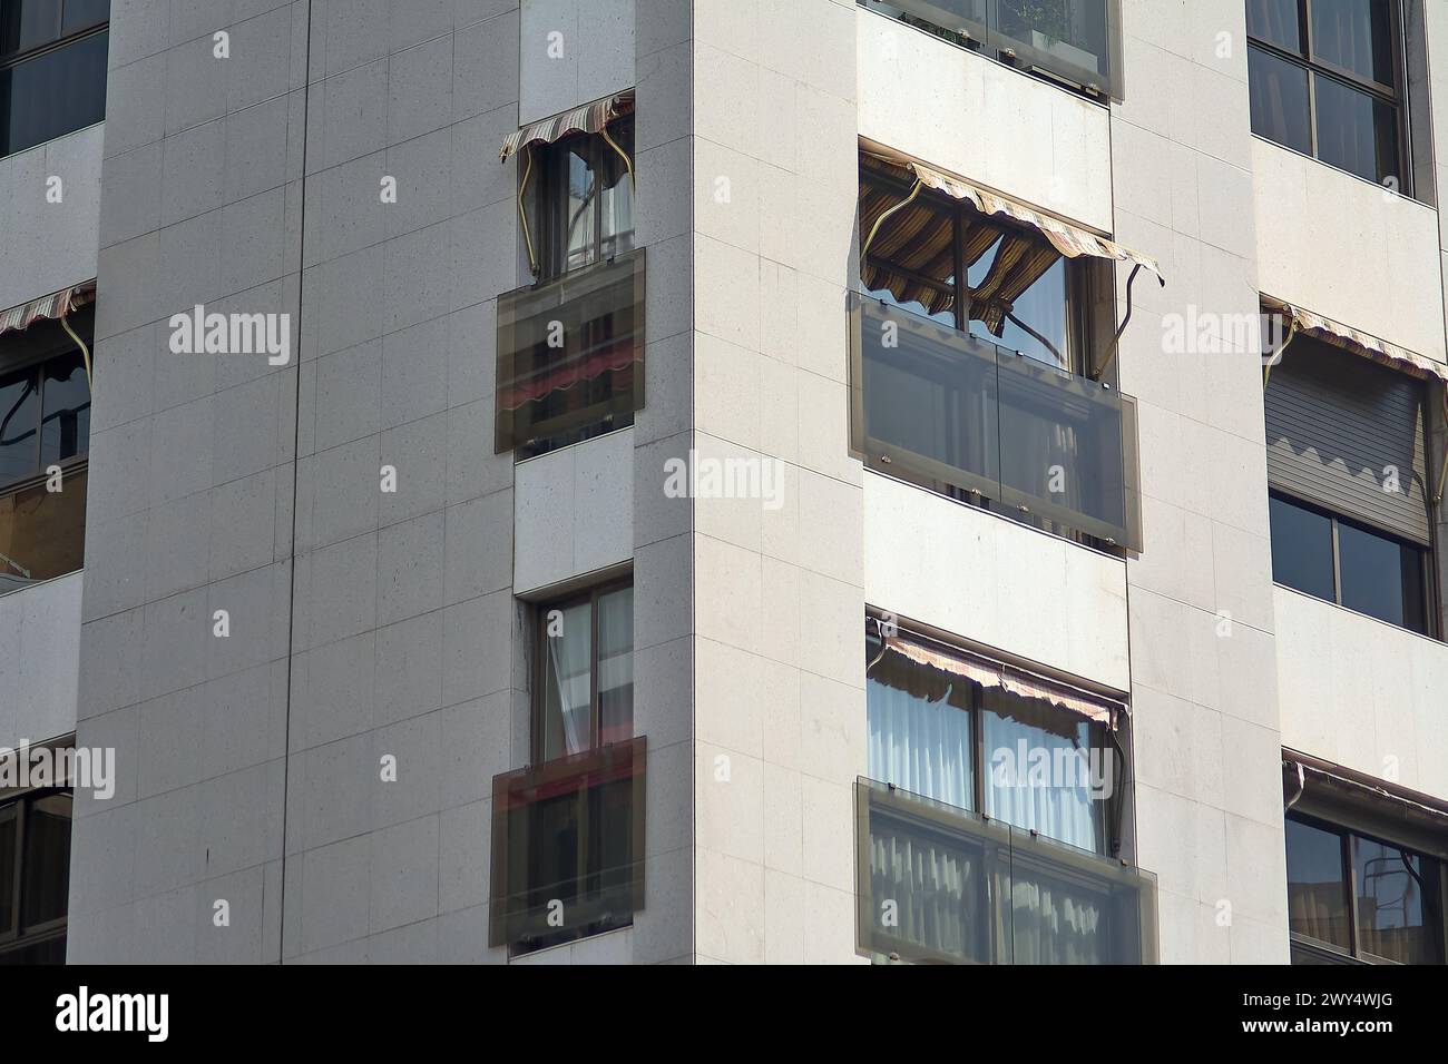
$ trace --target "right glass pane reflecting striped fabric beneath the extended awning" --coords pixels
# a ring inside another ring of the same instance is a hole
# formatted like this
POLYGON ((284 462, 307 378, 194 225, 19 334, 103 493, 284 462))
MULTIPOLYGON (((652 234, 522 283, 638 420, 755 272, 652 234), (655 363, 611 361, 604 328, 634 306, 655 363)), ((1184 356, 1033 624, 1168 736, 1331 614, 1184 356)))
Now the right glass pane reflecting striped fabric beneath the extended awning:
POLYGON ((1070 369, 1066 259, 1034 237, 1003 235, 966 272, 970 332, 1002 347, 1070 369), (1015 265, 1012 265, 1015 263, 1015 265))

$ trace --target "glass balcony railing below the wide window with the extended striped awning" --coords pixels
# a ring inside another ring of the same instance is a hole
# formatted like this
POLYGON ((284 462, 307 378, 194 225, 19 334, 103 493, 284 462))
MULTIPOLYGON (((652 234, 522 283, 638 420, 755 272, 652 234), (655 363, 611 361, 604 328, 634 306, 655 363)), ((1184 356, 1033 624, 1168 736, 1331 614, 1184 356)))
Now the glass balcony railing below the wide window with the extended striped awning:
POLYGON ((1134 400, 880 300, 856 294, 851 314, 867 465, 1141 549, 1134 400))

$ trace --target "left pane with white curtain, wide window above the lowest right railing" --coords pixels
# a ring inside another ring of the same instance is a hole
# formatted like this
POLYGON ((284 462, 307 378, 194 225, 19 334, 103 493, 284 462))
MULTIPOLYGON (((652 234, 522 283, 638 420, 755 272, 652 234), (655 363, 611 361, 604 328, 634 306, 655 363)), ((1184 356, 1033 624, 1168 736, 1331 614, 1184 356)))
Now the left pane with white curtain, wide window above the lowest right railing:
POLYGON ((964 680, 885 654, 864 683, 870 779, 973 809, 970 705, 964 680))

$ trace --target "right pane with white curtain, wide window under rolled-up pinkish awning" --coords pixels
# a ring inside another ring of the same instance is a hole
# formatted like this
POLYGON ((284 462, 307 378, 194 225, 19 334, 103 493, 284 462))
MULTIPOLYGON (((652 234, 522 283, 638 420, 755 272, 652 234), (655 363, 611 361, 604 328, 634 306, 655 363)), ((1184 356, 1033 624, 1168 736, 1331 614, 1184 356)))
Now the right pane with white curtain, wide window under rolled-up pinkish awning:
POLYGON ((986 815, 1106 853, 1115 759, 1105 730, 1006 691, 982 692, 986 815))

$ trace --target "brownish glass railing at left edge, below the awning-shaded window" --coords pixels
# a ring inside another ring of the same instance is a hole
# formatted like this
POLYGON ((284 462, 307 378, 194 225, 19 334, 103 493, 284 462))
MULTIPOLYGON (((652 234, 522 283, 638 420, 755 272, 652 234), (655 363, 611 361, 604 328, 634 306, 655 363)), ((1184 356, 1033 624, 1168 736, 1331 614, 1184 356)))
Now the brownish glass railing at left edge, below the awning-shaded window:
POLYGON ((0 595, 81 567, 85 472, 67 469, 62 491, 46 491, 41 479, 0 494, 0 595))

